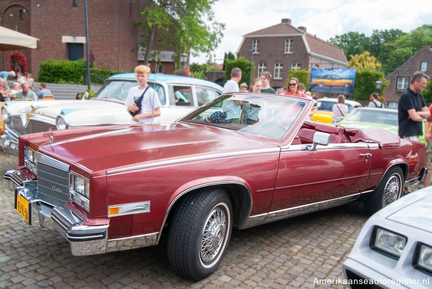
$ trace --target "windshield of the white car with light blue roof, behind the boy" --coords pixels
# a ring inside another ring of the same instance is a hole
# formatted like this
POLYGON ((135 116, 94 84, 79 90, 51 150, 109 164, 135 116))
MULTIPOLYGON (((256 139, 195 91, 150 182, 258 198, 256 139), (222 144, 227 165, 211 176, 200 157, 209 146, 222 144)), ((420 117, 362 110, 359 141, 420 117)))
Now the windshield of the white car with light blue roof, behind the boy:
MULTIPOLYGON (((96 93, 97 99, 102 98, 117 98, 126 100, 127 93, 129 90, 137 86, 138 83, 135 80, 108 80, 104 86, 99 89, 99 91, 96 93)), ((149 86, 153 89, 155 88, 155 84, 149 82, 149 86)), ((163 87, 156 83, 156 93, 158 94, 159 101, 161 102, 161 105, 165 104, 165 90, 163 87)))

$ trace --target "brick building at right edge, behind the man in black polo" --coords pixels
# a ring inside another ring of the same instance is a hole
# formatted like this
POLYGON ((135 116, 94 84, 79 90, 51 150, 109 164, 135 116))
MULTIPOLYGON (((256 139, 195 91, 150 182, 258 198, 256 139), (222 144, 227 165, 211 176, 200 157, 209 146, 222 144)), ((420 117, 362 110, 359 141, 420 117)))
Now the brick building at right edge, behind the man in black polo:
POLYGON ((424 46, 404 64, 391 73, 386 79, 390 80, 390 85, 385 90, 386 101, 389 106, 397 107, 400 95, 410 86, 411 76, 416 71, 422 71, 428 76, 432 76, 432 46, 424 46))

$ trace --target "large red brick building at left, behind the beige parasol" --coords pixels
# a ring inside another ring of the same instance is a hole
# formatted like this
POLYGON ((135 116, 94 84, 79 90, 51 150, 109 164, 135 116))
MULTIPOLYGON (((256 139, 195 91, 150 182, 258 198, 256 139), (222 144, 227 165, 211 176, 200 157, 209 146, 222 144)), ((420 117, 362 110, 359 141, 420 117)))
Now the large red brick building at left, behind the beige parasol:
MULTIPOLYGON (((138 39, 144 32, 136 25, 146 0, 87 1, 89 51, 95 66, 130 72, 142 63, 138 39)), ((84 2, 82 0, 1 0, 0 25, 39 38, 41 49, 20 50, 29 64, 29 73, 37 77, 39 65, 47 59, 86 58, 84 2)), ((0 51, 0 69, 10 70, 13 51, 0 51)), ((159 72, 172 73, 170 56, 158 64, 159 72)), ((154 71, 154 66, 151 67, 154 71)))

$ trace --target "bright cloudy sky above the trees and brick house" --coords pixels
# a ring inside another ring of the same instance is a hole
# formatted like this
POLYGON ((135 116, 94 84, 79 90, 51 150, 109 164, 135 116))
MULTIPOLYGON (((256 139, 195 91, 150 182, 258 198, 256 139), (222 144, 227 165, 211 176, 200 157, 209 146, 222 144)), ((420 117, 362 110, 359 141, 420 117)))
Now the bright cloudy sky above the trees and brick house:
MULTIPOLYGON (((324 40, 349 31, 370 36, 373 29, 410 32, 432 24, 430 0, 219 0, 213 11, 215 20, 226 24, 222 43, 213 53, 216 59, 223 58, 224 52, 235 53, 242 35, 276 25, 282 18, 324 40)), ((205 55, 191 59, 205 61, 205 55)))

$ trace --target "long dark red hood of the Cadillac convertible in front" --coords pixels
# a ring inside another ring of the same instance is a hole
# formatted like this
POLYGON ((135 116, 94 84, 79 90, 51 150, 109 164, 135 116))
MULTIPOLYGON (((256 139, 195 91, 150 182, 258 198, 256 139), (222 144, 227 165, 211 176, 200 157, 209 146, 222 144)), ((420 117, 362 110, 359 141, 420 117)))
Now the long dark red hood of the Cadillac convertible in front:
POLYGON ((39 152, 87 172, 263 146, 278 149, 266 138, 183 122, 58 130, 32 134, 30 140, 39 152))

